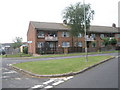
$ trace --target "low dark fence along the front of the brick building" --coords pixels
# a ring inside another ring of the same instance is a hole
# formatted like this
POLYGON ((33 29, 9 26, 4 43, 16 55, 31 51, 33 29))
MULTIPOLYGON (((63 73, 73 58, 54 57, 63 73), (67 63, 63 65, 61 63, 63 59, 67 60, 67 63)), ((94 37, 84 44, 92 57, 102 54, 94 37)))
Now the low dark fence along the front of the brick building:
MULTIPOLYGON (((101 47, 101 48, 88 48, 88 52, 97 52, 97 51, 112 51, 116 50, 116 47, 101 47)), ((67 47, 67 48, 62 48, 62 47, 57 47, 57 48, 37 48, 37 53, 38 54, 63 54, 63 53, 80 53, 80 52, 85 52, 85 48, 82 47, 67 47)))

